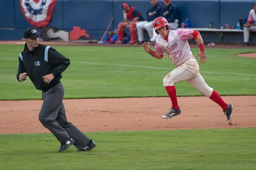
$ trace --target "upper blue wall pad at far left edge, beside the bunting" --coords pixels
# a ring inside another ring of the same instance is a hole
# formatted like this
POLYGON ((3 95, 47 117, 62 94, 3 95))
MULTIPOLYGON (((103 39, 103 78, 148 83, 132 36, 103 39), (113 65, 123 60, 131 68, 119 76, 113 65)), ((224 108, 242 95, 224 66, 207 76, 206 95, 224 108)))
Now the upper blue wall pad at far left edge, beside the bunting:
POLYGON ((0 27, 14 27, 14 0, 0 0, 0 27))

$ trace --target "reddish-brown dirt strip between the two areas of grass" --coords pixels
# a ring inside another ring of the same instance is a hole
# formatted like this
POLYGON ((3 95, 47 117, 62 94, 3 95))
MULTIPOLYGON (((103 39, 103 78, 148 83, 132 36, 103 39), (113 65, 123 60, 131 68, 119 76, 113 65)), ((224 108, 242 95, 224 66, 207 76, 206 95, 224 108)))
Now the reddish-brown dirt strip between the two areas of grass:
MULTIPOLYGON (((169 97, 64 100, 67 118, 81 131, 256 127, 256 96, 224 96, 234 105, 232 125, 206 97, 178 97, 181 115, 162 119, 169 97)), ((0 134, 49 132, 38 120, 41 100, 0 101, 0 134)))

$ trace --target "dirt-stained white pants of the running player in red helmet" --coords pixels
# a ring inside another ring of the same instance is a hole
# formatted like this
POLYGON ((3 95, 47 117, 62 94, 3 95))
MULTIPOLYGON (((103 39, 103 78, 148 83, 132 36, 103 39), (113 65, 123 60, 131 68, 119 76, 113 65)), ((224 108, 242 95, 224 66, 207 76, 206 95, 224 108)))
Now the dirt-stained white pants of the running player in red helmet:
POLYGON ((173 69, 169 74, 164 77, 163 85, 173 86, 175 83, 179 83, 181 81, 188 81, 195 89, 197 89, 202 95, 206 97, 210 97, 213 88, 209 87, 202 75, 199 73, 198 62, 192 56, 183 64, 177 66, 173 69))

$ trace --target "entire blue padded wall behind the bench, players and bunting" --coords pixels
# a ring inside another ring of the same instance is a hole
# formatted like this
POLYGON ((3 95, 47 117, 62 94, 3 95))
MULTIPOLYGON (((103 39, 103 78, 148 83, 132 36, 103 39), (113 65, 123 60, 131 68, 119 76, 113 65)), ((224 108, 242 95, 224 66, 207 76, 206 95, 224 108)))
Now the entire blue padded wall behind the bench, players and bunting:
MULTIPOLYGON (((91 39, 100 39, 109 24, 111 17, 114 22, 110 27, 113 31, 123 21, 122 3, 128 2, 139 10, 146 19, 146 12, 151 8, 149 0, 57 0, 50 26, 64 31, 71 31, 73 26, 87 30, 91 39)), ((247 18, 255 0, 172 0, 180 11, 183 23, 189 18, 192 27, 220 27, 228 23, 236 26, 238 19, 247 18)), ((163 3, 163 0, 159 0, 163 3)), ((32 27, 21 13, 19 0, 0 0, 0 40, 20 40, 23 30, 32 27)), ((128 30, 128 29, 127 29, 128 30)), ((40 29, 38 29, 41 32, 40 29)), ((129 35, 129 32, 127 31, 129 35)), ((214 33, 204 33, 204 39, 220 41, 214 33)), ((255 33, 250 41, 255 42, 255 33)), ((242 41, 243 35, 233 33, 229 42, 242 41)), ((223 36, 221 41, 225 41, 223 36)))

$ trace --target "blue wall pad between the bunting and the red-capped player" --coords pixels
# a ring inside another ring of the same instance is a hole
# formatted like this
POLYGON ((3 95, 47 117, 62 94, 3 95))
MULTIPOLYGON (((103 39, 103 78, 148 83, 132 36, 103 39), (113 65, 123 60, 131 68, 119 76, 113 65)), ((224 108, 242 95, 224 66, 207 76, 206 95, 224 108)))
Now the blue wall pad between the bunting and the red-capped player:
POLYGON ((80 26, 86 30, 102 31, 107 28, 113 16, 112 0, 64 0, 63 2, 64 29, 80 26))

